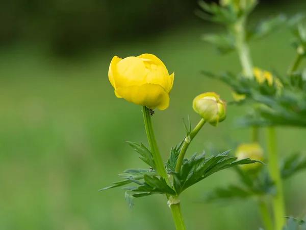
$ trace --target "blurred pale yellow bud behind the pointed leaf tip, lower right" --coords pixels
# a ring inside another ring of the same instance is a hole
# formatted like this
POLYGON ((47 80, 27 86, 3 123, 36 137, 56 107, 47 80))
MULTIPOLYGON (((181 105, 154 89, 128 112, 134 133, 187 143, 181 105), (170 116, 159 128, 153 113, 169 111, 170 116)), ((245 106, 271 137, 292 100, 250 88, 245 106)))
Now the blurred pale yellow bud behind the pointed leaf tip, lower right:
MULTIPOLYGON (((264 150, 258 143, 240 144, 236 149, 238 160, 250 158, 252 160, 264 160, 264 150)), ((239 165, 242 170, 254 170, 261 167, 262 164, 239 165)))

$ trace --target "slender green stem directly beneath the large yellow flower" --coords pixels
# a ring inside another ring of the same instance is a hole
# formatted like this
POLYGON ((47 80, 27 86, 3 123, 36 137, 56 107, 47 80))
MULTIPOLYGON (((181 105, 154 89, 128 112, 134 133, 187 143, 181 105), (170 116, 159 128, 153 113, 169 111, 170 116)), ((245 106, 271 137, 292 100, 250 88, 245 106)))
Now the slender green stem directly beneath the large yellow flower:
POLYGON ((168 173, 165 169, 165 165, 155 139, 150 110, 146 106, 143 106, 142 108, 145 131, 147 134, 151 153, 157 168, 157 172, 159 173, 159 175, 161 175, 161 177, 166 180, 167 184, 170 185, 168 173))

